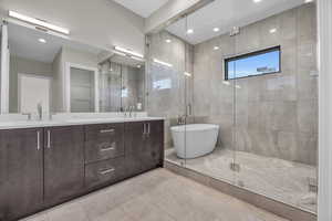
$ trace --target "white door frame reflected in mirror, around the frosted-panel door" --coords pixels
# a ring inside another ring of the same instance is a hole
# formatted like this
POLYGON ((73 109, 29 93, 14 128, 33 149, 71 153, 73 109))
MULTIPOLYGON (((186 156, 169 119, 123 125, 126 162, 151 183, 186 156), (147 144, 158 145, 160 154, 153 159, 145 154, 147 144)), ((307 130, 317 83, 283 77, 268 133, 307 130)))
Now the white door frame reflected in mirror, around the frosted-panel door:
POLYGON ((71 69, 80 69, 94 72, 94 112, 100 112, 100 87, 98 87, 98 70, 96 67, 85 66, 71 62, 65 62, 64 74, 64 94, 65 94, 65 112, 71 113, 71 69))

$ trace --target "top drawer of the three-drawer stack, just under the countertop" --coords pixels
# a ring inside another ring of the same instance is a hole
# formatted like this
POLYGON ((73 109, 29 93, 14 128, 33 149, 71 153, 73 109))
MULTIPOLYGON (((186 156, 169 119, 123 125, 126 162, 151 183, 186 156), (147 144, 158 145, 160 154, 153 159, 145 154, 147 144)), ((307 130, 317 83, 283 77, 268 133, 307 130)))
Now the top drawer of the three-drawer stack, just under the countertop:
POLYGON ((114 141, 117 138, 123 140, 124 124, 100 124, 85 126, 85 139, 90 140, 110 140, 114 141))

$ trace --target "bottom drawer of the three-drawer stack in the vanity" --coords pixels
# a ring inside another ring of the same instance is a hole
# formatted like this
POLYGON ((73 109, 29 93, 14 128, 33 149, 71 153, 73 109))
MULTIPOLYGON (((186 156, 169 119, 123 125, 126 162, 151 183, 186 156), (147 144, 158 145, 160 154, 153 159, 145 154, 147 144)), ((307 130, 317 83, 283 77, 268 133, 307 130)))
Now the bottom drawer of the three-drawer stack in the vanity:
POLYGON ((92 188, 116 182, 124 178, 124 157, 85 165, 85 187, 92 188))

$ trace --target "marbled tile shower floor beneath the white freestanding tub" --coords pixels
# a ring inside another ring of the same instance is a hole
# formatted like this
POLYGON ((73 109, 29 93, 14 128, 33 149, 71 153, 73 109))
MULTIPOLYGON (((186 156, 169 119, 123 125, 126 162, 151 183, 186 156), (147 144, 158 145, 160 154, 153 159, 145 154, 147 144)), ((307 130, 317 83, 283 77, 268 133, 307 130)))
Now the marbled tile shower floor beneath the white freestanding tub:
MULTIPOLYGON (((216 148, 212 154, 195 159, 179 159, 175 149, 165 151, 166 160, 287 204, 317 212, 317 193, 310 191, 317 180, 317 168, 250 152, 216 148), (236 159, 240 170, 230 164, 236 159)), ((314 188, 313 188, 314 189, 314 188)))

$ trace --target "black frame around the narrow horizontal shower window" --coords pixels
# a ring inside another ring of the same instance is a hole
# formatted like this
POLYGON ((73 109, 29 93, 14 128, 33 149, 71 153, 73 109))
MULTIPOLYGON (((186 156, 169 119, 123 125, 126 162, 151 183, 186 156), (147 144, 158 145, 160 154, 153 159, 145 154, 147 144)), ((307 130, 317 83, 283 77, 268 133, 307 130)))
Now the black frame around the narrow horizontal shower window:
POLYGON ((255 51, 255 52, 250 52, 250 53, 240 54, 240 55, 237 55, 237 56, 225 59, 224 60, 224 65, 225 65, 225 73, 224 73, 225 81, 240 80, 240 78, 247 78, 247 77, 252 77, 252 76, 261 76, 261 75, 281 73, 281 45, 277 45, 277 46, 272 46, 272 48, 268 48, 268 49, 263 49, 263 50, 259 50, 259 51, 255 51), (260 54, 266 54, 266 53, 269 53, 269 52, 276 52, 276 51, 279 51, 279 71, 262 73, 262 74, 253 74, 253 75, 248 75, 248 76, 234 77, 234 78, 228 77, 228 63, 229 62, 237 61, 237 60, 240 60, 240 59, 250 57, 250 56, 256 56, 256 55, 260 55, 260 54))

